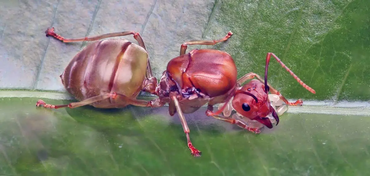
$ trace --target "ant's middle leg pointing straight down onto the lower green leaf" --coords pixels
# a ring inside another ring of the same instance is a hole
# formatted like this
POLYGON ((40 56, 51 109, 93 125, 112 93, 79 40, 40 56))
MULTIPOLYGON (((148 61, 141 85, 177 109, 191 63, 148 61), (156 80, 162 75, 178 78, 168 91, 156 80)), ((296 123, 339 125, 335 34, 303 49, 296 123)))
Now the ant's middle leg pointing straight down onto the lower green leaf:
POLYGON ((188 147, 191 150, 191 155, 193 155, 195 157, 201 156, 202 152, 199 151, 198 149, 196 149, 190 141, 190 137, 189 137, 190 130, 189 130, 188 124, 186 124, 185 116, 184 116, 184 113, 182 112, 182 110, 180 108, 180 103, 179 103, 178 99, 176 98, 175 95, 172 95, 171 99, 174 101, 176 111, 179 114, 179 118, 180 118, 180 121, 181 121, 181 124, 182 124, 182 128, 184 129, 184 132, 186 134, 186 138, 188 140, 188 147))

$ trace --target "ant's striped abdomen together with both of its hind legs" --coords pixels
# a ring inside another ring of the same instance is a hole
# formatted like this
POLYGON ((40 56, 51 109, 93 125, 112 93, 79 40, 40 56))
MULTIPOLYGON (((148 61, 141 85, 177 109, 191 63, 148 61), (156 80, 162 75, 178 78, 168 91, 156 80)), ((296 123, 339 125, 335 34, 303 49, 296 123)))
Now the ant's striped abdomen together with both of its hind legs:
POLYGON ((39 100, 36 106, 58 109, 90 104, 95 108, 123 108, 131 104, 127 99, 135 99, 141 90, 151 92, 157 85, 144 41, 138 32, 115 32, 75 39, 55 34, 54 28, 45 32, 46 36, 63 42, 96 42, 78 52, 60 75, 65 89, 80 102, 54 106, 39 100), (134 35, 139 45, 125 39, 100 40, 125 35, 134 35), (118 94, 124 98, 114 98, 118 94))

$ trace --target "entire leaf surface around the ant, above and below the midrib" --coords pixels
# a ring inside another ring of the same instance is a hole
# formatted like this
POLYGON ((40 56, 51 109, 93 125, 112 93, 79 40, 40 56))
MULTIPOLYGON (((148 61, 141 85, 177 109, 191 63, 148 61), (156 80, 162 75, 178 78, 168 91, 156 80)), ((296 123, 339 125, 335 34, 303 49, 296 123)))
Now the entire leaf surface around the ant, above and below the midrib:
MULTIPOLYGON (((157 78, 183 42, 232 31, 227 42, 188 51, 225 50, 238 77, 263 75, 266 54, 273 52, 317 92, 272 60, 269 82, 286 98, 369 108, 369 6, 369 0, 0 0, 0 96, 23 90, 57 99, 42 93, 51 91, 71 99, 59 75, 87 42, 47 38, 48 27, 65 38, 138 31, 157 78)), ((369 116, 369 109, 342 116, 302 107, 259 135, 201 109, 186 115, 203 152, 192 158, 177 115, 170 117, 166 107, 47 110, 34 108, 37 99, 1 101, 0 175, 369 175, 369 118, 354 115, 369 116)))

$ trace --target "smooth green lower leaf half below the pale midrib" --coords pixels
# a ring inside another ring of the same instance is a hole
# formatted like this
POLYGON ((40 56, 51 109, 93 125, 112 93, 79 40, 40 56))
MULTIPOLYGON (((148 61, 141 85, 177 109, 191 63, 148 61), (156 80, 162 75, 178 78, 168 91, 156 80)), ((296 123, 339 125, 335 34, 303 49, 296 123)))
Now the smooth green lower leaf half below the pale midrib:
MULTIPOLYGON (((167 107, 102 110, 35 108, 37 98, 4 98, 2 175, 369 175, 370 119, 290 114, 256 135, 186 115, 202 151, 190 155, 177 115, 167 107)), ((70 101, 45 99, 47 103, 70 101)))

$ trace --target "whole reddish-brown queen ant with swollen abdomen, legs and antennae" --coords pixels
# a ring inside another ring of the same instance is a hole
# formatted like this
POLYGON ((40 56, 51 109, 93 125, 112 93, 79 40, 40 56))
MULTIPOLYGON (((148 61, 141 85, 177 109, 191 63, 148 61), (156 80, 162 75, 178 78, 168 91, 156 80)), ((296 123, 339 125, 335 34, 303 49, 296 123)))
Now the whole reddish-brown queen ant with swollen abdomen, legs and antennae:
POLYGON ((124 35, 134 35, 139 45, 124 39, 108 39, 91 43, 71 60, 62 75, 62 83, 67 91, 80 102, 67 105, 49 105, 39 100, 36 106, 45 108, 77 108, 92 105, 96 108, 123 108, 127 105, 160 107, 168 103, 169 114, 175 112, 181 120, 186 134, 188 147, 193 156, 201 156, 189 137, 189 127, 184 113, 193 113, 208 103, 207 116, 236 124, 244 129, 259 133, 258 128, 250 127, 240 119, 219 115, 232 98, 232 106, 241 115, 256 120, 268 128, 272 123, 266 117, 270 113, 279 123, 274 108, 270 105, 268 91, 279 95, 287 105, 302 105, 302 100, 288 102, 280 93, 267 83, 267 71, 272 55, 293 77, 307 90, 315 91, 304 84, 289 70, 273 53, 266 57, 265 80, 255 73, 249 73, 237 80, 237 69, 230 54, 214 49, 194 49, 186 52, 187 45, 215 45, 226 41, 232 32, 219 40, 189 41, 181 45, 180 56, 171 59, 161 80, 152 76, 149 57, 140 34, 135 31, 116 32, 99 36, 65 39, 55 34, 54 28, 46 31, 47 36, 63 42, 95 41, 104 38, 124 35), (245 81, 249 81, 240 87, 245 81), (147 91, 157 95, 151 101, 136 99, 139 91, 147 91), (213 105, 225 103, 221 109, 213 113, 213 105))

